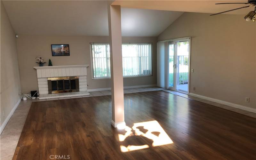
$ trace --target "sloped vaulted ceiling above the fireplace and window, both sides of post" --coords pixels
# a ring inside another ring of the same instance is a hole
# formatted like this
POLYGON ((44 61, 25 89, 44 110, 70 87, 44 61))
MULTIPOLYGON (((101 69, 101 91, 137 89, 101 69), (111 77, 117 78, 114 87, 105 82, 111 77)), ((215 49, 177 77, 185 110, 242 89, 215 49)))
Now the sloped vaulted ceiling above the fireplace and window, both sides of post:
MULTIPOLYGON (((107 1, 4 1, 17 34, 108 36, 107 1)), ((183 12, 122 8, 123 36, 158 36, 183 12)))

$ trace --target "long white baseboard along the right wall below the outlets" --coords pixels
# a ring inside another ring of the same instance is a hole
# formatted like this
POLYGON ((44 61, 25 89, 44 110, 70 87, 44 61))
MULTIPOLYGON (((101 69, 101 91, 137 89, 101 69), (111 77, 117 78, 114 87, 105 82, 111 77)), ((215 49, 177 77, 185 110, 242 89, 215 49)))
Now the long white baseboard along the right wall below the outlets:
POLYGON ((201 98, 201 99, 204 99, 204 100, 210 100, 210 101, 217 102, 217 103, 220 103, 220 104, 224 104, 224 105, 227 105, 227 106, 231 106, 231 107, 235 107, 235 108, 239 108, 239 109, 243 109, 243 110, 246 110, 246 111, 249 111, 249 112, 256 113, 255 108, 250 108, 250 107, 242 106, 242 105, 239 105, 239 104, 230 103, 230 102, 227 102, 227 101, 218 100, 218 99, 202 96, 202 95, 195 94, 195 93, 189 93, 189 95, 197 97, 197 98, 201 98))

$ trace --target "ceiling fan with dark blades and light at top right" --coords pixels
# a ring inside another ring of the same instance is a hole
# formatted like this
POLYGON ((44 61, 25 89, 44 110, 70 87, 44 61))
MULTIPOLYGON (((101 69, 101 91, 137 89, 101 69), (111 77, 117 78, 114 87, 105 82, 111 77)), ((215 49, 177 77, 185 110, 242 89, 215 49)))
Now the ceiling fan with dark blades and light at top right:
POLYGON ((239 9, 243 9, 243 8, 248 8, 248 7, 254 7, 254 11, 251 11, 249 12, 246 16, 244 16, 244 19, 246 21, 250 21, 252 20, 253 22, 256 22, 256 19, 255 19, 255 14, 256 14, 256 0, 248 0, 247 3, 216 3, 216 4, 249 4, 247 6, 244 6, 244 7, 240 7, 240 8, 236 8, 236 9, 232 9, 232 10, 228 10, 228 11, 224 11, 224 12, 220 12, 220 13, 215 13, 215 14, 212 14, 210 16, 214 16, 214 15, 217 15, 217 14, 221 14, 221 13, 226 13, 226 12, 230 12, 230 11, 235 11, 235 10, 239 10, 239 9))

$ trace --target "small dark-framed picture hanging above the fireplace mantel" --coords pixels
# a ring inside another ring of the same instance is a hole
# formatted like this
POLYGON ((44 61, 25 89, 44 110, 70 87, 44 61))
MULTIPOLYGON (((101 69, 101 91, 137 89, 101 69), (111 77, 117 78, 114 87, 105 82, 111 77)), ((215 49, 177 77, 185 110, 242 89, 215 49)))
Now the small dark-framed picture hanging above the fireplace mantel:
POLYGON ((69 45, 52 44, 52 56, 69 56, 69 45))

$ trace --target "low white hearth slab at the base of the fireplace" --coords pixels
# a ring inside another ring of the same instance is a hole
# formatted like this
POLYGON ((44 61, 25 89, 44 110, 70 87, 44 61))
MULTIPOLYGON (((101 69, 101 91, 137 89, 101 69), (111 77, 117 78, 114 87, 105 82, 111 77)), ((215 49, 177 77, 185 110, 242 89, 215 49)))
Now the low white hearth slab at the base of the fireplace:
POLYGON ((39 100, 66 98, 66 97, 77 97, 77 96, 87 96, 87 95, 90 95, 90 93, 87 92, 87 91, 67 92, 67 93, 53 93, 53 94, 40 94, 39 95, 39 100))

